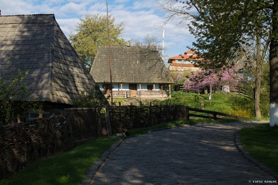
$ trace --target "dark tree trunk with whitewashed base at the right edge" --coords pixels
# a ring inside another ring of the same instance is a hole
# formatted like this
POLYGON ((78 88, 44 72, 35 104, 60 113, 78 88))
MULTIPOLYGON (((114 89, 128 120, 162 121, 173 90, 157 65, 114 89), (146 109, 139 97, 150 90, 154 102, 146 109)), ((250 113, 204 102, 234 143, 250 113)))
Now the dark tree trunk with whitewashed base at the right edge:
POLYGON ((278 124, 278 0, 274 0, 272 14, 272 34, 269 51, 270 78, 270 121, 269 125, 278 124))

